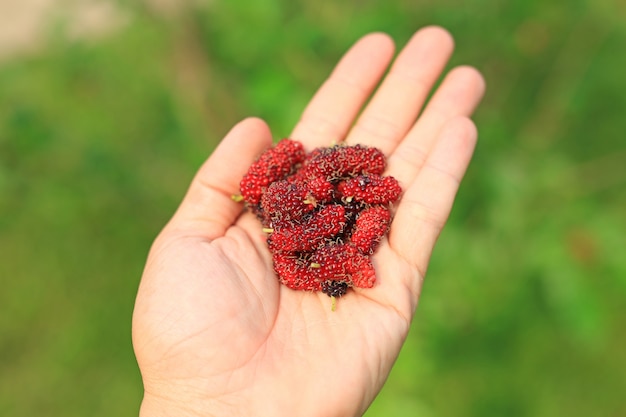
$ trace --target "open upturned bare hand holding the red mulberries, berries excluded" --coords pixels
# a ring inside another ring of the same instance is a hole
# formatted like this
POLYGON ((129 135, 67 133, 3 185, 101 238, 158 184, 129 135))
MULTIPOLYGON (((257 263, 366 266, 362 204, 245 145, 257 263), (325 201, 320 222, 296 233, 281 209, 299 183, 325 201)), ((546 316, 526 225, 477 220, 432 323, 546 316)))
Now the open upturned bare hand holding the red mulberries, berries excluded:
POLYGON ((471 158, 468 116, 484 90, 476 70, 458 67, 424 106, 453 49, 447 32, 429 27, 359 114, 393 48, 380 33, 359 40, 290 136, 309 151, 345 139, 388 156, 386 174, 404 194, 373 257, 375 287, 348 292, 331 311, 325 294, 278 283, 260 223, 231 200, 272 141, 263 121, 242 121, 201 167, 148 257, 133 317, 142 416, 361 415, 380 391, 471 158))

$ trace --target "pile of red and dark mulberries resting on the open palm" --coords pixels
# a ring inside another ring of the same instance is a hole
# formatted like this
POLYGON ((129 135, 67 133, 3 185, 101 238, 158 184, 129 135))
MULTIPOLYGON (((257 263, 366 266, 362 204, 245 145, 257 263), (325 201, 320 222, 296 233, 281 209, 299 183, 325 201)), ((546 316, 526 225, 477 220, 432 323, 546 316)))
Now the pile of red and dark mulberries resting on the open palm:
POLYGON ((306 154, 283 139, 252 164, 241 195, 268 233, 278 280, 293 290, 341 297, 371 288, 371 256, 389 231, 391 207, 402 188, 383 176, 383 153, 335 145, 306 154))

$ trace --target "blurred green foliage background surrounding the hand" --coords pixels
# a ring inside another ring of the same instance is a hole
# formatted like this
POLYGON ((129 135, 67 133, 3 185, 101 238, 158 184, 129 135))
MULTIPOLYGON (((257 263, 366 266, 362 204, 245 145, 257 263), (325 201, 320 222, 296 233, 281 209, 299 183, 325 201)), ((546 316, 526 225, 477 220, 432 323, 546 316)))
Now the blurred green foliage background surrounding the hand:
POLYGON ((405 348, 368 417, 626 415, 626 7, 111 3, 0 62, 0 415, 136 415, 149 245, 238 120, 289 134, 341 54, 439 24, 488 92, 405 348))

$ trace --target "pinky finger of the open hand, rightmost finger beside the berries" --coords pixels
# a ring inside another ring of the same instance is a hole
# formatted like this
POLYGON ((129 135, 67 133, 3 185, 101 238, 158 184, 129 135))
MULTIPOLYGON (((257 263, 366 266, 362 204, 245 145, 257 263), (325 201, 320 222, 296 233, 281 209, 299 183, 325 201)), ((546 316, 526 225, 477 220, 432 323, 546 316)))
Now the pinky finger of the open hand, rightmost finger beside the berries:
POLYGON ((450 120, 398 206, 389 243, 422 277, 450 215, 476 139, 476 127, 469 118, 450 120))

